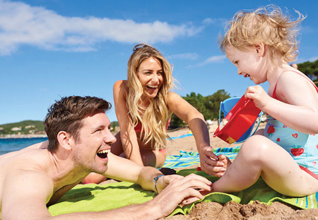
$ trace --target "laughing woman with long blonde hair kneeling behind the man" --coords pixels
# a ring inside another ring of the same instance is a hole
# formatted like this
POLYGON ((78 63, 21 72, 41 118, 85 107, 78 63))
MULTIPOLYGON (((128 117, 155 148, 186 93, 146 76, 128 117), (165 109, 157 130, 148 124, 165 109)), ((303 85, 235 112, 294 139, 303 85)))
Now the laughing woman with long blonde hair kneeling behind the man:
MULTIPOLYGON (((127 80, 117 81, 113 86, 120 132, 116 135, 116 143, 112 144, 112 153, 139 165, 162 167, 167 156, 167 128, 174 113, 189 125, 198 151, 205 152, 200 154, 218 159, 210 150, 203 115, 178 94, 171 92, 173 87, 171 66, 165 57, 149 45, 136 45, 128 61, 127 80)), ((201 166, 205 170, 206 164, 201 163, 201 166)), ((223 170, 221 167, 213 169, 216 173, 223 170)), ((98 174, 95 175, 97 177, 90 178, 88 182, 103 181, 98 179, 98 174)))

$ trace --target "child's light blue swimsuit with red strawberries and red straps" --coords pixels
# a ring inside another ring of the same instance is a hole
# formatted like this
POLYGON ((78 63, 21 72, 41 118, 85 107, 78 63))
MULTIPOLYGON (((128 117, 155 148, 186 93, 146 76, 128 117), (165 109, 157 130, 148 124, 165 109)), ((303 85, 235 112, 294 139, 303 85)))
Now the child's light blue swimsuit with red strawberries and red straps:
MULTIPOLYGON (((301 76, 304 75, 301 74, 301 76)), ((312 84, 318 92, 317 86, 314 83, 312 84)), ((273 98, 277 99, 275 92, 276 85, 273 91, 273 98)), ((307 135, 298 132, 269 116, 267 118, 264 136, 289 152, 301 169, 318 179, 318 134, 307 135)))

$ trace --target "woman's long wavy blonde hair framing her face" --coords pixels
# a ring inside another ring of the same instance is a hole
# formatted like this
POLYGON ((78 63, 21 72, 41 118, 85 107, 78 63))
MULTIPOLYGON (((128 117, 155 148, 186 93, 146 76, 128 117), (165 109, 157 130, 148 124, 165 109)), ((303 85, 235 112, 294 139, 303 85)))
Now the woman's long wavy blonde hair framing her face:
POLYGON ((133 48, 133 53, 128 61, 127 87, 129 94, 127 99, 127 108, 131 116, 131 122, 135 127, 141 122, 142 141, 151 143, 154 150, 166 147, 167 121, 171 117, 171 111, 167 106, 168 92, 174 87, 174 78, 172 77, 172 68, 165 57, 155 48, 147 44, 138 44, 133 48), (141 106, 141 96, 144 89, 137 77, 137 69, 147 58, 158 59, 163 69, 163 84, 161 85, 157 96, 150 100, 149 106, 145 109, 141 106))

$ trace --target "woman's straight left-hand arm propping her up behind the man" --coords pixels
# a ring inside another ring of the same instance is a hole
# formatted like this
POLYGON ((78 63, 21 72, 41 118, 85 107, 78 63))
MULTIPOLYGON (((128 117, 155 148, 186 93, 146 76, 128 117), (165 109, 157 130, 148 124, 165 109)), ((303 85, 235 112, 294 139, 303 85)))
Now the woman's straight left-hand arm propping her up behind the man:
POLYGON ((127 109, 128 88, 126 83, 126 81, 120 80, 113 86, 115 112, 120 126, 120 138, 126 157, 143 166, 137 135, 131 124, 127 109))

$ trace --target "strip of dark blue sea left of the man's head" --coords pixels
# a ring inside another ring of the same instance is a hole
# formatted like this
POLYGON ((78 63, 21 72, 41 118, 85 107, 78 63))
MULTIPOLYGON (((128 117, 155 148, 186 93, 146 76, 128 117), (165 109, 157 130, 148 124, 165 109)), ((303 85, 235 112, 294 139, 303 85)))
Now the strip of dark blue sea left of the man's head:
POLYGON ((19 151, 25 147, 47 140, 47 137, 3 138, 0 139, 0 155, 19 151))

